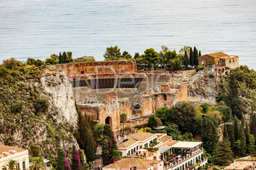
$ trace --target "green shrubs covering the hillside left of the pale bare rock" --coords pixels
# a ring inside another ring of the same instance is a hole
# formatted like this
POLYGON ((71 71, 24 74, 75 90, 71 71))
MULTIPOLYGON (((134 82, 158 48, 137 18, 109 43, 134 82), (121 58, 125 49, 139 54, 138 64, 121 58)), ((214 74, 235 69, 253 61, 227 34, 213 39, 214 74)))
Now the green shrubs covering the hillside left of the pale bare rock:
MULTIPOLYGON (((29 150, 37 145, 44 157, 53 160, 57 148, 79 147, 72 134, 76 124, 63 118, 53 104, 53 95, 41 84, 45 68, 43 62, 32 58, 27 63, 11 58, 0 65, 0 144, 29 150)), ((48 87, 60 86, 64 79, 57 74, 49 76, 56 79, 45 79, 48 87)))

